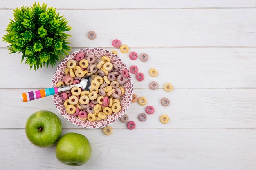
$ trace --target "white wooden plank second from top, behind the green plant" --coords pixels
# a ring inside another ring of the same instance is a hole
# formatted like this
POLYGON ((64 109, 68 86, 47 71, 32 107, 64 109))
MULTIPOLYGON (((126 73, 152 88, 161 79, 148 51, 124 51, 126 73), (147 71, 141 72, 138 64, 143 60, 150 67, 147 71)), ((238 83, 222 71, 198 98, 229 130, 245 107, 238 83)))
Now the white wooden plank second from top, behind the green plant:
MULTIPOLYGON (((255 9, 58 10, 73 27, 72 47, 111 47, 113 39, 129 46, 255 46, 255 9), (117 15, 118 12, 118 15, 117 15), (239 13, 239 15, 238 15, 239 13), (139 16, 139 17, 138 17, 139 16), (115 23, 110 26, 110 23, 115 23), (88 31, 97 39, 89 40, 88 31)), ((11 10, 0 10, 7 26, 11 10)), ((0 37, 5 34, 0 29, 0 37)), ((6 47, 0 42, 0 47, 6 47)))

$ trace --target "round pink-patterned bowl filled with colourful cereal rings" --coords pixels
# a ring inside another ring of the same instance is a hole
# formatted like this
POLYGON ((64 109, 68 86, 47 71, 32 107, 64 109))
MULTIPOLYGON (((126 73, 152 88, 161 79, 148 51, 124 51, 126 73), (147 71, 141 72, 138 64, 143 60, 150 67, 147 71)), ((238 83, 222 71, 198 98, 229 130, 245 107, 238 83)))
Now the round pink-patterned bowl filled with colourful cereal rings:
POLYGON ((79 84, 81 77, 90 74, 99 75, 90 91, 73 87, 71 91, 53 95, 53 102, 70 123, 102 128, 126 112, 132 99, 132 78, 126 64, 114 53, 86 48, 74 51, 59 64, 52 87, 79 84))

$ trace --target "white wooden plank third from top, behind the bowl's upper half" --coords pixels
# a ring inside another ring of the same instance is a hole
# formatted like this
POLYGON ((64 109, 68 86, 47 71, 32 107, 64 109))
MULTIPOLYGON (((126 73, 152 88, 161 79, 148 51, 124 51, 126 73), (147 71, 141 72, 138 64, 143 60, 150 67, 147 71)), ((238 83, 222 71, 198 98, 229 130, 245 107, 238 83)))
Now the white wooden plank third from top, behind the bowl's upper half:
MULTIPOLYGON (((174 88, 256 87, 256 48, 130 50, 149 55, 147 62, 141 62, 139 58, 133 61, 128 54, 117 50, 128 67, 137 65, 145 75, 143 82, 138 82, 132 75, 135 88, 148 88, 153 80, 159 83, 159 88, 166 82, 173 83, 174 88), (159 75, 150 77, 150 68, 156 68, 159 75)), ((0 53, 11 63, 0 62, 0 73, 8 72, 1 75, 8 83, 1 83, 0 88, 49 88, 57 66, 30 71, 29 66, 20 64, 21 54, 9 55, 7 49, 0 49, 0 53)))

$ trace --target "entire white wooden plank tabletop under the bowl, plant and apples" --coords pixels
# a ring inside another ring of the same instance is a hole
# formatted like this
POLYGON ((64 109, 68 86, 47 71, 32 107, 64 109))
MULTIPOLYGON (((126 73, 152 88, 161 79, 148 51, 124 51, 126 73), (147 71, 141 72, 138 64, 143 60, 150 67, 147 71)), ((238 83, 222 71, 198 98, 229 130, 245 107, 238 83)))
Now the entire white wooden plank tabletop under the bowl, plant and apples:
MULTIPOLYGON (((33 0, 0 3, 0 37, 12 18, 12 9, 33 0)), ((51 84, 56 69, 29 71, 21 55, 9 55, 0 42, 0 170, 46 169, 256 169, 256 1, 255 0, 40 0, 57 8, 73 27, 72 51, 84 47, 113 49, 120 39, 131 51, 146 52, 148 62, 132 62, 144 72, 143 82, 134 80, 135 93, 155 107, 146 122, 137 115, 144 107, 131 104, 127 114, 136 121, 127 130, 120 121, 113 134, 87 130, 67 122, 52 98, 20 101, 20 93, 51 84), (108 24, 111 24, 108 26, 108 24), (93 30, 97 39, 89 40, 93 30), (6 63, 10 64, 6 64, 6 63), (148 75, 157 68, 158 77, 148 75), (36 80, 36 81, 35 81, 36 80), (159 82, 152 91, 148 83, 159 82), (174 90, 166 93, 165 82, 174 90), (159 99, 168 97, 163 107, 159 99), (63 134, 77 132, 88 137, 92 157, 84 166, 65 166, 54 155, 55 146, 37 148, 25 135, 29 115, 50 110, 63 122, 63 134), (161 124, 159 115, 170 122, 161 124)))

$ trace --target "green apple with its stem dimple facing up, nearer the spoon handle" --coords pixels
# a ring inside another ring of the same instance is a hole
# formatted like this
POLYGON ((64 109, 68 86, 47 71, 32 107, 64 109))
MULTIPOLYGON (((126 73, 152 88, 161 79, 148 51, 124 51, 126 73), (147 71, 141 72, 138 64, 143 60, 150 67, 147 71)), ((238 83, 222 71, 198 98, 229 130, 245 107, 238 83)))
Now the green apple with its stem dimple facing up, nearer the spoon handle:
POLYGON ((26 123, 26 135, 29 141, 39 147, 48 147, 61 137, 61 120, 50 111, 33 113, 26 123))

